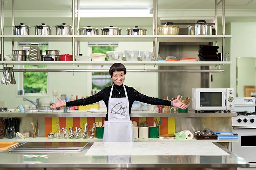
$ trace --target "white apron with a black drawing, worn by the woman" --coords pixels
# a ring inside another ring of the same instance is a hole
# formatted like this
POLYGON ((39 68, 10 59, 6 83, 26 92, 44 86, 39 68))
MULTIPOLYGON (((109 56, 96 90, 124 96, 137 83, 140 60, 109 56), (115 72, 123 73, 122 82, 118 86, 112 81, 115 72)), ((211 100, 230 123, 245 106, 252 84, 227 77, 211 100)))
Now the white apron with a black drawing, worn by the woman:
POLYGON ((103 142, 133 142, 126 89, 123 85, 125 98, 112 98, 113 86, 108 100, 108 121, 104 123, 103 142))

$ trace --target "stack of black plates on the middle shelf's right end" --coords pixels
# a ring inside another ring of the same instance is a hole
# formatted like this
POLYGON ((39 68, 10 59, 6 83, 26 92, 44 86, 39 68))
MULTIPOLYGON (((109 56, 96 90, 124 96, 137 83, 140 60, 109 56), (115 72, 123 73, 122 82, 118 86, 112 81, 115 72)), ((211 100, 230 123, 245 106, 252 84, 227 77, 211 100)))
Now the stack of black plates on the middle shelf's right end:
POLYGON ((218 56, 219 46, 201 46, 198 51, 200 61, 220 61, 218 56))

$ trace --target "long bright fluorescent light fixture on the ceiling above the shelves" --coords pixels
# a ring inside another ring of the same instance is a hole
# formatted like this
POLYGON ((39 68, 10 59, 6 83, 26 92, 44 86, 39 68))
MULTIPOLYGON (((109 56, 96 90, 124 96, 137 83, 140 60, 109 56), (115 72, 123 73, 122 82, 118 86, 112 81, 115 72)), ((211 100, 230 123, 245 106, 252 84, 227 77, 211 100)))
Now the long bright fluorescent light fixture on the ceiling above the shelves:
MULTIPOLYGON (((152 6, 80 6, 79 11, 82 18, 152 17, 152 9, 152 6)), ((75 13, 77 11, 75 6, 75 13)))

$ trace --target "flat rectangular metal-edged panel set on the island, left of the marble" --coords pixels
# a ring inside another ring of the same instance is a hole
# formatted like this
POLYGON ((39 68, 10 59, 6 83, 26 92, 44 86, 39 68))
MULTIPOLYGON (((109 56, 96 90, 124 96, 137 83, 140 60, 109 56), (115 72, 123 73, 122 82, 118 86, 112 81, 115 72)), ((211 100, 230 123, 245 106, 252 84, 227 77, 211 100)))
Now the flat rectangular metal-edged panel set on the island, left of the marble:
POLYGON ((88 142, 27 142, 9 152, 81 152, 88 142))

